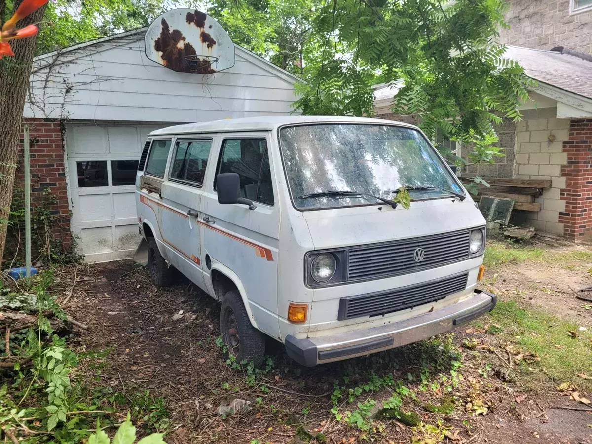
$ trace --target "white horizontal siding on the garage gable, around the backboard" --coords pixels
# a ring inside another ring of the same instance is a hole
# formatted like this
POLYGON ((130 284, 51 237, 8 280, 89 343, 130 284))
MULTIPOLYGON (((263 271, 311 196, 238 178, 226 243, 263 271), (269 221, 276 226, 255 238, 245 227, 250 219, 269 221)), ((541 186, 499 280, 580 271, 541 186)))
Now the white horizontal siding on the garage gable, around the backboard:
POLYGON ((295 78, 255 54, 237 46, 228 70, 179 73, 146 58, 143 36, 38 58, 24 117, 189 123, 292 111, 295 78))

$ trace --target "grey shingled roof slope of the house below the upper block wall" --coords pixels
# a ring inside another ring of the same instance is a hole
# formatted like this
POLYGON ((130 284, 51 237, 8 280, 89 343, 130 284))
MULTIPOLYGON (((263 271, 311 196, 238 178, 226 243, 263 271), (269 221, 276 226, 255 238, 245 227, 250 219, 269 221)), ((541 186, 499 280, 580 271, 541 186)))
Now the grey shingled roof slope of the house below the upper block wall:
POLYGON ((504 56, 520 63, 531 79, 592 99, 592 62, 519 46, 507 46, 504 56))

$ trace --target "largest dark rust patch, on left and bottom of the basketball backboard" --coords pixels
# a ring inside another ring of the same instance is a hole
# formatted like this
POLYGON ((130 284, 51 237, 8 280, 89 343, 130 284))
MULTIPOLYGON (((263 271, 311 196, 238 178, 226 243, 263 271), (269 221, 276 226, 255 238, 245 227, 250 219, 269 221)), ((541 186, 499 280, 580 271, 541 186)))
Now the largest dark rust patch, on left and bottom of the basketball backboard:
MULTIPOLYGON (((215 44, 215 41, 213 44, 215 44)), ((210 61, 196 57, 195 48, 191 43, 187 43, 183 33, 178 29, 171 31, 168 22, 164 18, 162 19, 160 36, 154 42, 154 49, 162 53, 162 56, 160 56, 162 64, 175 71, 198 74, 213 74, 215 72, 210 61)))

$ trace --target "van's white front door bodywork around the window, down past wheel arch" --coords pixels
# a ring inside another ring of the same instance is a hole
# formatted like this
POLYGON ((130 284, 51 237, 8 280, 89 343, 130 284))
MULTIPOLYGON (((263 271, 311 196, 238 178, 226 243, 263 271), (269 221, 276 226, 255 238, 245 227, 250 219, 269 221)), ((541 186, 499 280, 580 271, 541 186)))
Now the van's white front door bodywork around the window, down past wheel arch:
MULTIPOLYGON (((224 140, 265 139, 272 175, 274 205, 255 201, 255 210, 247 205, 218 203, 214 176, 207 178, 201 200, 202 258, 211 258, 211 268, 220 264, 240 279, 246 295, 251 321, 259 330, 275 339, 278 332, 278 263, 280 204, 275 179, 275 152, 269 149, 269 133, 224 133, 218 138, 218 150, 211 163, 218 168, 224 140)), ((205 278, 211 271, 204 268, 205 278)))

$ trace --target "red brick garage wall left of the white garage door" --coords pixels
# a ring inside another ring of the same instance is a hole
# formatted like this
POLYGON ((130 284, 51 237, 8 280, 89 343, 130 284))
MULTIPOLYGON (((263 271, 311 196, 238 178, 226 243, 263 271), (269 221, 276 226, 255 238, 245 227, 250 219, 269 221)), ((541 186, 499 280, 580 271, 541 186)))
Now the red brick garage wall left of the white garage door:
MULTIPOLYGON (((57 198, 50 206, 54 216, 53 234, 67 245, 70 242, 70 212, 66 189, 66 170, 64 165, 64 145, 62 123, 42 119, 24 119, 29 126, 30 172, 31 172, 31 207, 43 202, 46 189, 57 198)), ((24 190, 24 133, 21 126, 19 156, 15 175, 15 191, 24 190)))

